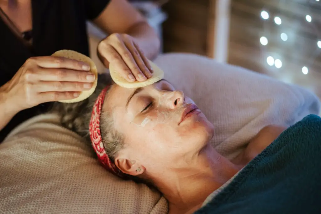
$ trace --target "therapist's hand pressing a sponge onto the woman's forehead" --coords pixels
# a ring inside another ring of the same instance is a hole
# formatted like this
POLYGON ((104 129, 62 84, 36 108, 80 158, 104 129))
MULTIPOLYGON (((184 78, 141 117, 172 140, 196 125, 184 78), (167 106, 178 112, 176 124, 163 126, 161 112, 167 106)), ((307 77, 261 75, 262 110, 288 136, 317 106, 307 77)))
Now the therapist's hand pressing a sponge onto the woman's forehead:
POLYGON ((128 34, 111 34, 99 43, 97 52, 106 68, 112 64, 128 82, 142 82, 152 77, 151 65, 128 34))

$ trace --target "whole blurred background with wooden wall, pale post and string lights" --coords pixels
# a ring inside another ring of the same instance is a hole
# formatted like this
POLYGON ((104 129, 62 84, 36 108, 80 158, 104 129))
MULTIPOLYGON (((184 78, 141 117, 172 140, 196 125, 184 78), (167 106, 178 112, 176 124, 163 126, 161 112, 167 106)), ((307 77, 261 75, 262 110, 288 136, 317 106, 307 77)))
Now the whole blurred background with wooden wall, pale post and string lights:
POLYGON ((162 52, 186 52, 303 86, 321 98, 320 0, 135 0, 162 52))

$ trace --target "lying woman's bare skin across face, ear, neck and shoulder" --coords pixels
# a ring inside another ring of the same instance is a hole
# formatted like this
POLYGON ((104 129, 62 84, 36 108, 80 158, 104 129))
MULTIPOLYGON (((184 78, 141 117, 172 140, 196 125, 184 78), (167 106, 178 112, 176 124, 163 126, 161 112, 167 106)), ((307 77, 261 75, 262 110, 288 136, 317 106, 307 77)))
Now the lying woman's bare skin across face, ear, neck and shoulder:
POLYGON ((193 213, 285 128, 268 126, 235 160, 209 144, 214 127, 195 103, 166 80, 143 88, 112 85, 103 105, 125 138, 115 155, 123 172, 151 181, 169 213, 193 213), (136 171, 141 168, 142 170, 136 171))

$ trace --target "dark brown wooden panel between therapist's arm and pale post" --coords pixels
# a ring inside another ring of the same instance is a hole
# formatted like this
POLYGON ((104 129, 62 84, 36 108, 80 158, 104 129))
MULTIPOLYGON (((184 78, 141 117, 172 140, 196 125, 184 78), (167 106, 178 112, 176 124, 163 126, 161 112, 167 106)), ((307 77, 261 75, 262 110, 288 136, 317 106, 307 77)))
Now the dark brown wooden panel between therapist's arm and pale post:
POLYGON ((206 55, 208 0, 170 0, 163 6, 164 52, 206 55))

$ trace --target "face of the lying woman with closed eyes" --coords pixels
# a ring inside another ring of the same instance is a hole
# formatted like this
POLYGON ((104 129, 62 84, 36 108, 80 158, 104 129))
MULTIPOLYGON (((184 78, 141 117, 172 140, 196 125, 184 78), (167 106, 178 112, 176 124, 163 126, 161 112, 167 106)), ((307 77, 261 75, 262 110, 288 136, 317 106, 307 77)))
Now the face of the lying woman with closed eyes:
POLYGON ((204 114, 166 80, 133 89, 113 85, 103 108, 112 112, 115 129, 125 137, 118 156, 146 169, 188 159, 213 137, 204 114))

